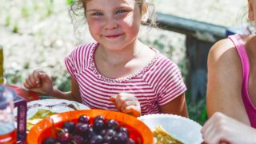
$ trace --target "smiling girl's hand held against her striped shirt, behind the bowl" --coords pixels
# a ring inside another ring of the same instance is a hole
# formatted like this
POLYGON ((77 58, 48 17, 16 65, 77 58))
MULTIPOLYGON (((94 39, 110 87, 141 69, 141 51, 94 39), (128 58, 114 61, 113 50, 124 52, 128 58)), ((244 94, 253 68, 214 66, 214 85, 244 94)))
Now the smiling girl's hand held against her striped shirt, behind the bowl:
POLYGON ((138 99, 133 94, 120 93, 118 96, 110 97, 115 107, 123 113, 139 117, 141 115, 141 106, 138 99))

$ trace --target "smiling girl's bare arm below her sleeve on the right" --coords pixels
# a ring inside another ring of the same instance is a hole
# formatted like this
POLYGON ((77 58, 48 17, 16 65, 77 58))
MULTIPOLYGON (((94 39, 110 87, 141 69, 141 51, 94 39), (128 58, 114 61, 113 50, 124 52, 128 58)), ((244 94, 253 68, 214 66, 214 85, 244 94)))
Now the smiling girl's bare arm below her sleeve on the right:
POLYGON ((186 97, 185 94, 181 94, 172 101, 166 103, 166 105, 160 106, 161 112, 164 114, 177 114, 183 117, 188 117, 186 109, 186 97))

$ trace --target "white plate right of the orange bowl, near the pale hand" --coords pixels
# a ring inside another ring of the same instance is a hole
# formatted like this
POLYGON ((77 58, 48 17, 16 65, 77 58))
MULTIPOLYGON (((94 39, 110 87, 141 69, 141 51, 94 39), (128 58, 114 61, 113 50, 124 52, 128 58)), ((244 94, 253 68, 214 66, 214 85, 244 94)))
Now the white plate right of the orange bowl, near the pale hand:
POLYGON ((172 114, 149 114, 138 119, 144 122, 152 131, 156 126, 161 125, 174 138, 184 143, 202 143, 202 134, 200 132, 202 126, 189 118, 172 114))

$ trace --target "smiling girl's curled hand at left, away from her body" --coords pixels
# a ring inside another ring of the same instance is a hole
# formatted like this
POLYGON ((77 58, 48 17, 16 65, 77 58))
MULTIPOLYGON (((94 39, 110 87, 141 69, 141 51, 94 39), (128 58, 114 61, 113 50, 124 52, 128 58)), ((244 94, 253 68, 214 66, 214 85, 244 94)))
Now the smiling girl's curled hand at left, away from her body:
POLYGON ((54 91, 50 76, 42 70, 34 70, 29 74, 23 86, 28 90, 47 95, 51 95, 54 91))

